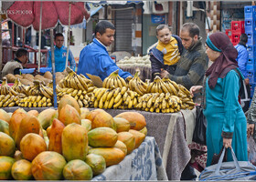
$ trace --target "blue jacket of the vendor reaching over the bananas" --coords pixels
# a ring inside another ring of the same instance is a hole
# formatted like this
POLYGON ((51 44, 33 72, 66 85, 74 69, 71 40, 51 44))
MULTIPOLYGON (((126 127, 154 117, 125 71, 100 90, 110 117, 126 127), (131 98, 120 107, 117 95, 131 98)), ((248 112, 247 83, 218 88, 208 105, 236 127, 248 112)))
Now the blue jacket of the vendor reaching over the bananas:
POLYGON ((115 65, 112 58, 109 56, 106 47, 101 45, 96 38, 94 38, 92 43, 85 46, 80 52, 78 74, 84 76, 87 76, 86 74, 100 76, 101 80, 104 80, 117 69, 119 69, 118 75, 124 79, 128 76, 132 76, 130 73, 124 72, 115 65))

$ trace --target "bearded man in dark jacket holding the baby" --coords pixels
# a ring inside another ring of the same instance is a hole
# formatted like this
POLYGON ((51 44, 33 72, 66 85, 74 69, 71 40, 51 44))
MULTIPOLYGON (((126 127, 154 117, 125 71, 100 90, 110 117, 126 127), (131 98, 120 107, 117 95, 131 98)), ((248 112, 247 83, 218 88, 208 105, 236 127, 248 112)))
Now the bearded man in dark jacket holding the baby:
POLYGON ((186 23, 180 31, 182 45, 185 47, 177 62, 174 74, 167 71, 161 72, 161 77, 169 76, 177 84, 186 86, 199 86, 203 84, 205 71, 208 68, 208 56, 202 37, 199 36, 200 29, 194 23, 186 23))

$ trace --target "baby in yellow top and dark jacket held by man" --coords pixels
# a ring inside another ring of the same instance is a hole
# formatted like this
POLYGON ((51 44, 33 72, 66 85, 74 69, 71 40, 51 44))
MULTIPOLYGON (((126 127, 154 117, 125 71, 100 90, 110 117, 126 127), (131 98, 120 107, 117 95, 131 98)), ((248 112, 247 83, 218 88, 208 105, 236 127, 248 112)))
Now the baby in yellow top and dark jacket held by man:
POLYGON ((158 25, 156 37, 158 42, 151 45, 147 51, 150 55, 152 80, 155 76, 160 76, 161 69, 174 75, 176 63, 183 51, 181 39, 177 35, 172 35, 168 25, 158 25))

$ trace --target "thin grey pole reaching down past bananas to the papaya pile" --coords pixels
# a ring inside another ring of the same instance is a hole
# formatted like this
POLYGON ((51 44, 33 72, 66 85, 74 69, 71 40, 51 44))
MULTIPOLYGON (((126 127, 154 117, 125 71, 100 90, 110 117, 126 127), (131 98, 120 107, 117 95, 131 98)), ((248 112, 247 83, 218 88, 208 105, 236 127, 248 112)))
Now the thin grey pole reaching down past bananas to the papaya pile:
POLYGON ((54 106, 54 108, 57 108, 55 57, 54 57, 54 46, 53 46, 53 29, 50 29, 50 50, 51 50, 51 66, 52 66, 52 79, 53 79, 53 106, 54 106))

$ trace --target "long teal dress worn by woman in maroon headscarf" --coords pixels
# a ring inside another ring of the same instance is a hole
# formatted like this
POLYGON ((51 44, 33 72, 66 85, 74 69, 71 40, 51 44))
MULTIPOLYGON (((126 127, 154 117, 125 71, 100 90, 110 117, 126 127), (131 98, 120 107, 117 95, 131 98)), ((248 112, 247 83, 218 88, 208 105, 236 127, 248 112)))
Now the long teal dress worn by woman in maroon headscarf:
MULTIPOLYGON (((213 154, 219 154, 223 146, 221 132, 233 132, 232 147, 240 161, 247 161, 247 123, 246 117, 238 101, 240 90, 240 77, 230 70, 224 78, 218 78, 213 89, 206 84, 206 109, 207 117, 207 146, 208 161, 210 165, 213 154)), ((228 150, 228 161, 232 161, 228 150)))

